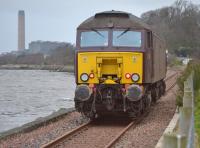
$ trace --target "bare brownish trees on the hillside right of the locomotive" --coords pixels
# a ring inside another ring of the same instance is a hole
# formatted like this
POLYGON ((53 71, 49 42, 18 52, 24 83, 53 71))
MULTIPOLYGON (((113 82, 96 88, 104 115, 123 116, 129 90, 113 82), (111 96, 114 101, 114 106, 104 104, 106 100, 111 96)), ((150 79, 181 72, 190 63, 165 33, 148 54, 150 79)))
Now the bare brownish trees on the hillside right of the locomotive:
POLYGON ((161 35, 171 53, 200 57, 200 6, 177 0, 172 6, 145 12, 144 22, 161 35))

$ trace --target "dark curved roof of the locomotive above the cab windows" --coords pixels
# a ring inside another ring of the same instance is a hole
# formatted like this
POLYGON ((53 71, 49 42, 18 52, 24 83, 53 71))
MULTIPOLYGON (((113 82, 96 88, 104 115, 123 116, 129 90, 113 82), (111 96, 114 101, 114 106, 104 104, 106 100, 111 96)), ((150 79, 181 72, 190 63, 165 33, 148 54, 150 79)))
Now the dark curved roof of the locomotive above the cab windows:
POLYGON ((81 23, 77 29, 93 28, 134 28, 151 30, 150 26, 142 22, 137 16, 114 10, 96 13, 94 16, 81 23))

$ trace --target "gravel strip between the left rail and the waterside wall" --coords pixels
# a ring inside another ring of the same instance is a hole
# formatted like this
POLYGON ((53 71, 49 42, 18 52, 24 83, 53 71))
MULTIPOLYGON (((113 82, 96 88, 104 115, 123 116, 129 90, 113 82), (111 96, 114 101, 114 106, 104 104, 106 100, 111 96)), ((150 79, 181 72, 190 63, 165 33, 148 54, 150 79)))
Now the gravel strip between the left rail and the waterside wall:
POLYGON ((71 112, 62 119, 39 127, 31 132, 0 140, 0 148, 37 148, 87 122, 81 114, 71 112))

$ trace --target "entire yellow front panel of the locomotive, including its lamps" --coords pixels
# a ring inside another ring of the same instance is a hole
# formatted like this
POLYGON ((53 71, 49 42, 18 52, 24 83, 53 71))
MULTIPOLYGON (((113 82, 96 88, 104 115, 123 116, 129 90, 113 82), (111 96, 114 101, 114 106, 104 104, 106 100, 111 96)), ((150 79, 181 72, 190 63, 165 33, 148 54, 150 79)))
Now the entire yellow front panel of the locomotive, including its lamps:
POLYGON ((142 83, 143 53, 92 51, 77 53, 78 84, 142 83))

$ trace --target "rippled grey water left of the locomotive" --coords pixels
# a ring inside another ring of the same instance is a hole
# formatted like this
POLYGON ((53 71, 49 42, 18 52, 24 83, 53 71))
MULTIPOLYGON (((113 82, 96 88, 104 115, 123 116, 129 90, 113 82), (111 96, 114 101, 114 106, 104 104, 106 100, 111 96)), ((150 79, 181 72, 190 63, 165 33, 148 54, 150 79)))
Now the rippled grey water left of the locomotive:
POLYGON ((74 75, 43 70, 0 70, 0 133, 74 106, 74 75))

